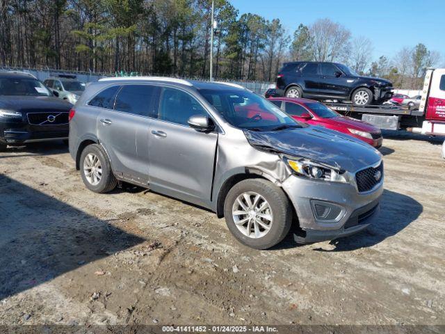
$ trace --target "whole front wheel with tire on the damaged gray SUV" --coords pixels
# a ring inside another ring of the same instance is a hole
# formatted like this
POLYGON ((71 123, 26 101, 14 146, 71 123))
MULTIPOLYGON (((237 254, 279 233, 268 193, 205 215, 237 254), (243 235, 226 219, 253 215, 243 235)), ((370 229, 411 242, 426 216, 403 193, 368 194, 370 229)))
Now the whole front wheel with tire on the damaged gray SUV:
POLYGON ((227 228, 246 246, 267 249, 280 243, 292 225, 292 208, 284 191, 263 179, 235 184, 224 203, 227 228))

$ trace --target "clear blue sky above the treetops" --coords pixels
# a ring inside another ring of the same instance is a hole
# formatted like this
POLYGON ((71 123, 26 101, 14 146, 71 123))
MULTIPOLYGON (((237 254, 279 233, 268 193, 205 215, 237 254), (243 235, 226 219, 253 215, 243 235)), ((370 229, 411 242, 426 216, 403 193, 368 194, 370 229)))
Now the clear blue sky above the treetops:
POLYGON ((346 26, 353 37, 373 42, 373 58, 393 58, 402 47, 419 42, 445 54, 445 0, 231 0, 243 13, 278 18, 293 34, 298 24, 329 17, 346 26))

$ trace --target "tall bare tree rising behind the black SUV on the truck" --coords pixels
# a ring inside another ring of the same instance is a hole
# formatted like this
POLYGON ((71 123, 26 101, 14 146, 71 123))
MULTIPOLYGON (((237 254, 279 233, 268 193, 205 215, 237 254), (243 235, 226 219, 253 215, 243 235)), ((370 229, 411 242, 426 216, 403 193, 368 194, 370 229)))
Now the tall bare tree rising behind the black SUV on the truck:
POLYGON ((344 61, 350 49, 351 33, 330 19, 318 19, 309 27, 315 61, 344 61))

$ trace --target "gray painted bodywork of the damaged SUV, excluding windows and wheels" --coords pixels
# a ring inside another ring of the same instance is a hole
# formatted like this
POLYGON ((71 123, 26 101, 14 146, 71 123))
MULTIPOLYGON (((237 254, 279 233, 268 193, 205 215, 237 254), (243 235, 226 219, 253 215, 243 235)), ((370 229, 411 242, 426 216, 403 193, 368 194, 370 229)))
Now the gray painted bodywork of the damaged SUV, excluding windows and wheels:
MULTIPOLYGON (((340 231, 355 210, 378 202, 382 195, 383 182, 372 191, 359 193, 354 184, 293 175, 282 159, 282 154, 306 157, 353 174, 382 160, 381 154, 369 145, 318 127, 246 133, 229 125, 193 86, 141 80, 143 84, 179 88, 193 95, 216 122, 214 132, 197 132, 184 125, 87 105, 99 90, 129 83, 135 81, 122 78, 88 86, 76 103, 76 116, 70 122, 70 153, 74 159, 79 156, 83 141, 94 141, 105 148, 119 180, 147 186, 213 212, 218 212, 218 196, 227 180, 246 173, 261 175, 282 187, 303 230, 340 231), (111 124, 101 120, 110 120, 111 124), (257 144, 277 152, 259 150, 254 147, 257 144), (317 221, 311 200, 339 205, 342 216, 334 222, 317 221)), ((366 226, 359 225, 343 234, 366 226)))

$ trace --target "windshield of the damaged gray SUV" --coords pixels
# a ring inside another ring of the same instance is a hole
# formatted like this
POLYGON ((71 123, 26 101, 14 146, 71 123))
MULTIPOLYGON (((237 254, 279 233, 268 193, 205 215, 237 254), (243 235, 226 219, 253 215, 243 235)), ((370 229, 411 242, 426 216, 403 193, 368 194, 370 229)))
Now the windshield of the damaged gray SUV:
POLYGON ((301 127, 275 104, 248 90, 200 90, 200 93, 234 127, 252 131, 301 127))

